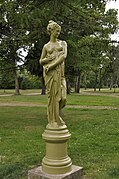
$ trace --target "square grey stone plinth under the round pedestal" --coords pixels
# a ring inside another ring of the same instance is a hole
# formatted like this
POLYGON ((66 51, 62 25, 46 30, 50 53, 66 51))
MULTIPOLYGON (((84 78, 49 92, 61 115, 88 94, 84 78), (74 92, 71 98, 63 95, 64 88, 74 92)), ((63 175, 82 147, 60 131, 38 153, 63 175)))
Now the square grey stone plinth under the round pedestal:
POLYGON ((53 175, 43 172, 40 166, 28 171, 28 179, 83 179, 83 168, 73 165, 71 172, 53 175))

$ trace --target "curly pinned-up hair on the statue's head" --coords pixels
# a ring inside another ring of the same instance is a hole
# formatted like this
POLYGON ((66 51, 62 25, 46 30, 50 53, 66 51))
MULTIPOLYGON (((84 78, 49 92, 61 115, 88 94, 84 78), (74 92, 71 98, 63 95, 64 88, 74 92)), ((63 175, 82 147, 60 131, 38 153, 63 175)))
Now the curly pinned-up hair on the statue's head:
POLYGON ((60 29, 60 31, 61 31, 61 26, 59 24, 57 24, 56 22, 54 22, 53 20, 50 20, 49 24, 47 26, 48 34, 50 35, 51 31, 54 30, 54 29, 60 29))

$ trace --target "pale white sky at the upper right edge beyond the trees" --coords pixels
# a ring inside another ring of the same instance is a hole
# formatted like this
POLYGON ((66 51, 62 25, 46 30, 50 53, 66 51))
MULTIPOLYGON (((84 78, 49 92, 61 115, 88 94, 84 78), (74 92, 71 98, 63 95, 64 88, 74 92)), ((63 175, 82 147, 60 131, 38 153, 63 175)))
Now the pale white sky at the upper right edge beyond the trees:
MULTIPOLYGON (((117 0, 117 1, 112 0, 112 1, 108 2, 106 5, 106 10, 108 10, 108 9, 117 9, 118 10, 118 20, 119 20, 119 0, 117 0)), ((119 42, 119 30, 114 35, 111 35, 111 39, 117 40, 119 42)))

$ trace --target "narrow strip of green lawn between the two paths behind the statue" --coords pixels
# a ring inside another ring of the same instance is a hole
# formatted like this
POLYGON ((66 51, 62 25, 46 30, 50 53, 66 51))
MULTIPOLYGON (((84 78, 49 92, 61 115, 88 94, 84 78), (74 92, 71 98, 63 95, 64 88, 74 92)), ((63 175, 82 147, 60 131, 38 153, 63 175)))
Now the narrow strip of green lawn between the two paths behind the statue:
MULTIPOLYGON (((101 93, 102 94, 102 93, 101 93)), ((119 107, 118 96, 108 95, 85 95, 74 94, 67 95, 67 105, 81 105, 81 106, 112 106, 119 107)), ((47 104, 47 95, 12 95, 0 96, 0 102, 14 102, 27 104, 47 104)))

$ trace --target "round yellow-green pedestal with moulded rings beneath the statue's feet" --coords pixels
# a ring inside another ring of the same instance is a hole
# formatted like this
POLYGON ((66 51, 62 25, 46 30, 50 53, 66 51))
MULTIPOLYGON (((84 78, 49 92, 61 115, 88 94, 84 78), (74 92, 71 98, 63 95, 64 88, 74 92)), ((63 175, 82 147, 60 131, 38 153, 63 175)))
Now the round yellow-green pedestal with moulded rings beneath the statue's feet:
POLYGON ((67 141, 70 138, 67 126, 47 125, 42 134, 46 142, 46 156, 42 160, 42 170, 48 174, 64 174, 72 169, 67 155, 67 141))

